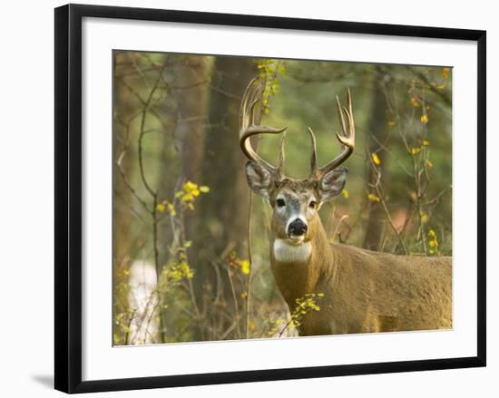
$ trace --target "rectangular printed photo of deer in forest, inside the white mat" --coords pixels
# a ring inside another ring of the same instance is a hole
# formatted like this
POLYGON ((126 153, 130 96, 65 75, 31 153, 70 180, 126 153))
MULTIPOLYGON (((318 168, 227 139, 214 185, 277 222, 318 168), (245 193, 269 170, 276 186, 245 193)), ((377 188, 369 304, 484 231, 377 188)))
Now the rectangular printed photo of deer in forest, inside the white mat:
POLYGON ((452 68, 113 51, 113 345, 452 329, 452 68))

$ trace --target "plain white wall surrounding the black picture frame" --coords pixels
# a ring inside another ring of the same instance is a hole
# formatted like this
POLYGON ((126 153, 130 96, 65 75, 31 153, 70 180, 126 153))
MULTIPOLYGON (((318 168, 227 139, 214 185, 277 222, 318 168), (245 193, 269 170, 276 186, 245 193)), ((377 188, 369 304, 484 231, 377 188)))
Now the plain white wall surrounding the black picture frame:
MULTIPOLYGON (((88 3, 80 1, 80 3, 88 3)), ((489 366, 415 374, 385 374, 277 383, 249 383, 174 389, 165 392, 115 393, 122 396, 219 397, 316 396, 422 397, 496 396, 499 372, 494 344, 497 319, 493 317, 499 296, 493 290, 493 266, 498 255, 492 250, 499 238, 499 211, 494 186, 499 171, 497 116, 499 102, 494 74, 498 70, 499 25, 494 2, 451 1, 347 1, 286 2, 251 0, 99 1, 91 4, 148 6, 199 11, 298 16, 390 24, 422 24, 485 29, 488 31, 488 314, 489 366), (237 3, 237 4, 236 4, 237 3), (494 129, 495 128, 495 129, 494 129), (494 377, 495 376, 495 377, 494 377)), ((53 8, 63 2, 6 2, 0 13, 0 391, 5 396, 50 396, 53 372, 53 258, 54 258, 54 149, 53 149, 53 8)), ((105 395, 105 396, 110 396, 105 395)))

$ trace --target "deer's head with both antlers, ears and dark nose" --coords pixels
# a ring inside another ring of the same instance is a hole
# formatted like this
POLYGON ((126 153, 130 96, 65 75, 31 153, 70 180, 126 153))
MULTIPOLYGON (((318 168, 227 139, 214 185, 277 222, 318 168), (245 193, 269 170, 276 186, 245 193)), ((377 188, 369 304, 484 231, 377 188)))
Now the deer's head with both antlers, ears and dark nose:
POLYGON ((308 128, 311 141, 310 175, 305 180, 295 180, 284 176, 284 137, 286 127, 282 129, 261 126, 256 111, 260 102, 264 83, 259 78, 253 79, 244 93, 240 107, 240 147, 249 161, 246 175, 249 188, 269 201, 274 209, 272 231, 275 238, 286 239, 288 243, 300 245, 310 241, 320 224, 318 209, 325 201, 333 199, 345 186, 347 168, 339 167, 348 159, 355 147, 355 125, 352 112, 350 91, 347 92, 347 107, 341 106, 338 96, 338 118, 341 133, 337 132, 342 145, 337 158, 325 166, 317 166, 317 148, 314 132, 308 128), (250 137, 257 134, 280 134, 280 161, 274 167, 259 157, 253 150, 250 137))

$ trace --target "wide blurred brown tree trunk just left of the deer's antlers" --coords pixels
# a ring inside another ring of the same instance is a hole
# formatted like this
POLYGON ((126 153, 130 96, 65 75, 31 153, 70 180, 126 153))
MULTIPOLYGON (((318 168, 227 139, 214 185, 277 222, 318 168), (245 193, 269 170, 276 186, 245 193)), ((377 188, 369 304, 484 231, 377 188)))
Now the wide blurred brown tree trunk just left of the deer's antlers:
MULTIPOLYGON (((203 311, 212 311, 212 317, 220 316, 220 309, 217 311, 206 306, 212 306, 216 286, 222 286, 220 305, 234 318, 236 314, 240 316, 235 320, 237 327, 225 338, 238 338, 245 330, 244 301, 240 298, 243 290, 230 280, 227 274, 230 269, 224 267, 224 257, 232 251, 238 257, 247 257, 249 191, 244 166, 246 159, 239 144, 239 110, 243 92, 256 73, 252 59, 216 58, 208 112, 210 127, 206 130, 201 164, 201 181, 210 187, 210 193, 201 199, 196 209, 197 222, 191 223, 191 258, 196 268, 195 290, 200 306, 203 311), (217 264, 219 276, 214 267, 217 264)), ((221 331, 227 330, 234 322, 211 321, 219 325, 221 331)), ((220 335, 210 335, 210 338, 220 338, 220 335)))

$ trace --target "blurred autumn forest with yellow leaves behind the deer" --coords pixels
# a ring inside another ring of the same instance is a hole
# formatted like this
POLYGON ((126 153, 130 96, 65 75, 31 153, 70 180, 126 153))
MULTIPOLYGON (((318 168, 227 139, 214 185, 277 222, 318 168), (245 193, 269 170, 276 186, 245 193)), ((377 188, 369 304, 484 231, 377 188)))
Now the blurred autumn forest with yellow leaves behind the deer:
MULTIPOLYGON (((288 126, 285 172, 339 150, 335 97, 351 89, 357 146, 346 189, 322 207, 330 241, 452 255, 452 69, 113 53, 113 343, 296 336, 269 268, 269 205, 252 197, 239 146, 249 81, 262 123, 288 126)), ((279 160, 279 138, 255 142, 279 160)), ((106 265, 103 265, 106 267, 106 265)), ((305 304, 303 304, 305 303, 305 304)))

